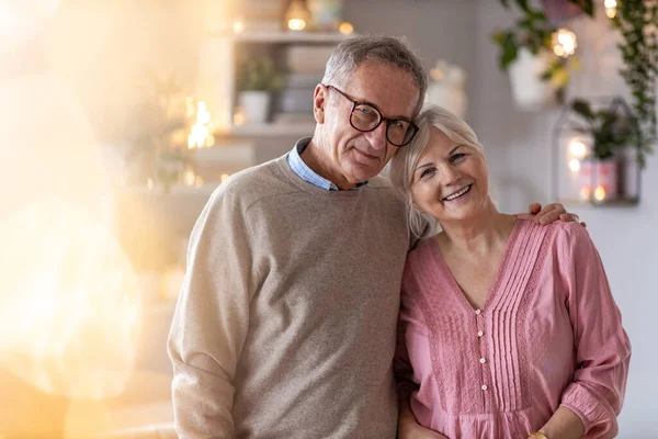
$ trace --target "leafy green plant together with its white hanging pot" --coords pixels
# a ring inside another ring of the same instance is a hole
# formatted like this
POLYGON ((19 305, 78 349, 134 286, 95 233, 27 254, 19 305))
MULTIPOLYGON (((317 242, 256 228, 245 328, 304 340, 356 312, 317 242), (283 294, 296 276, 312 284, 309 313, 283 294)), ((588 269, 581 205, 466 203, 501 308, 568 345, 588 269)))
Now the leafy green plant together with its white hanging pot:
MULTIPOLYGON (((578 0, 567 0, 580 5, 578 0)), ((509 0, 500 0, 510 8, 509 0)), ((569 68, 576 61, 568 53, 558 56, 554 50, 557 29, 546 13, 534 9, 526 0, 517 0, 522 15, 514 26, 495 32, 491 37, 499 46, 499 65, 509 71, 512 95, 522 110, 534 110, 561 101, 564 89, 569 83, 569 68)), ((592 16, 593 9, 585 11, 592 16)))

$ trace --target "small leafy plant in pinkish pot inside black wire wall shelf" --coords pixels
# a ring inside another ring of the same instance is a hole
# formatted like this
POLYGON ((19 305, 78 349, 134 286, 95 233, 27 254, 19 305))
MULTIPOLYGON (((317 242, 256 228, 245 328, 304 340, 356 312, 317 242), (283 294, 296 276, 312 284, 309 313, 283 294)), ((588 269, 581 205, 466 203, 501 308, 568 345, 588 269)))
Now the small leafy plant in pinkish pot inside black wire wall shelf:
POLYGON ((574 130, 588 137, 590 148, 580 166, 581 196, 603 201, 614 199, 620 190, 623 154, 636 140, 635 121, 623 101, 594 110, 583 99, 576 99, 571 110, 579 119, 574 130), (598 191, 598 192, 597 192, 598 191))

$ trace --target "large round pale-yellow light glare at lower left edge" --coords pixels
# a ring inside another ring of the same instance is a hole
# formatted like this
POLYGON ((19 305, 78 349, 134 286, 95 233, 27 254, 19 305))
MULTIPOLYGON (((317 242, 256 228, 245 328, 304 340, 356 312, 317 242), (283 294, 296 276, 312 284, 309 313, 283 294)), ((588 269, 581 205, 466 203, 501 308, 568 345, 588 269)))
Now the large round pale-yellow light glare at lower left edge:
POLYGON ((0 260, 10 262, 0 266, 0 365, 53 395, 121 394, 133 372, 140 297, 109 228, 50 199, 8 217, 0 239, 0 260))

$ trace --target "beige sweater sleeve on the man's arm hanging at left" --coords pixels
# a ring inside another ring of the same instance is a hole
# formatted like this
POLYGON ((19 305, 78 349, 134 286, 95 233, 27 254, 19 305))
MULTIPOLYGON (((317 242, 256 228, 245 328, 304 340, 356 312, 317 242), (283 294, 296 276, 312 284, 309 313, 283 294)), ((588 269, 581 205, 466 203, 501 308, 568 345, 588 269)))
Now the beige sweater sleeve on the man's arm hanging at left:
MULTIPOLYGON (((223 184, 204 207, 169 334, 172 398, 180 438, 232 438, 236 367, 253 294, 248 224, 223 184)), ((234 185, 235 188, 235 185, 234 185)))

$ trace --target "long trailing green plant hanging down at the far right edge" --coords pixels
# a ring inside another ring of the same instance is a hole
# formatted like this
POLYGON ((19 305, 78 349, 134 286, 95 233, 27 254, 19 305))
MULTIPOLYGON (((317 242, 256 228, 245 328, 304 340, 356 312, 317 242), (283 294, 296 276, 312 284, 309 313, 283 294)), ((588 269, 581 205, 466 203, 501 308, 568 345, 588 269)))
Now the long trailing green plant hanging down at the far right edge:
POLYGON ((656 80, 658 79, 658 0, 619 0, 612 19, 623 36, 619 44, 624 66, 620 74, 633 97, 637 125, 637 161, 646 166, 656 132, 656 80))

